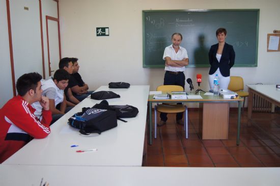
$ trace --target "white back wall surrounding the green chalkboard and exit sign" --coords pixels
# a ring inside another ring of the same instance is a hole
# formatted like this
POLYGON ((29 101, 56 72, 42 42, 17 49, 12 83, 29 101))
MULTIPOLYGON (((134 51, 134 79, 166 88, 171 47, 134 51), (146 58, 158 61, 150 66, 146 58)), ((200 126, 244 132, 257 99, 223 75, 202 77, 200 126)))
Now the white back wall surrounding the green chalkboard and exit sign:
MULTIPOLYGON (((82 77, 93 90, 116 81, 151 90, 163 84, 163 69, 142 67, 142 10, 169 9, 260 9, 258 67, 233 67, 231 75, 242 76, 244 84, 280 84, 280 52, 266 51, 267 33, 280 29, 279 0, 60 0, 59 5, 62 57, 79 58, 82 77), (102 26, 109 27, 109 37, 96 37, 102 26)), ((207 77, 208 71, 187 68, 186 78, 207 77)), ((209 89, 207 81, 201 88, 209 89)))

